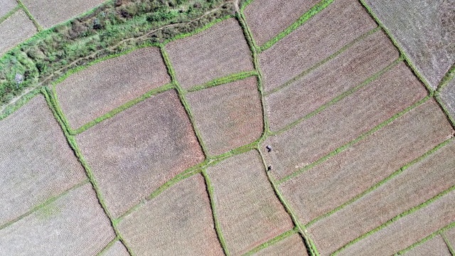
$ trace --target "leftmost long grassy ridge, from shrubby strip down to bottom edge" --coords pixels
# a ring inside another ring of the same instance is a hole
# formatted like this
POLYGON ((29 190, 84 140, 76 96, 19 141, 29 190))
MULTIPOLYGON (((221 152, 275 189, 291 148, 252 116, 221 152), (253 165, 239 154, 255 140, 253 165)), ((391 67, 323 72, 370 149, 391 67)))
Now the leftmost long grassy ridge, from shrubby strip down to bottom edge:
POLYGON ((48 106, 50 107, 50 110, 52 110, 55 119, 60 124, 60 127, 63 130, 63 134, 65 134, 68 144, 75 152, 75 156, 80 161, 80 164, 82 165, 82 167, 85 169, 85 174, 87 174, 87 177, 88 177, 90 183, 92 184, 92 188, 95 191, 95 194, 97 196, 98 202, 100 203, 102 210, 107 215, 107 218, 109 218, 109 221, 112 225, 112 229, 114 230, 115 235, 119 237, 119 240, 127 248, 129 254, 135 255, 132 252, 132 249, 129 247, 129 245, 127 245, 127 242, 125 242, 125 240, 122 238, 122 235, 119 232, 119 229, 117 228, 117 223, 114 221, 114 217, 109 212, 109 210, 107 210, 107 205, 106 205, 105 199, 102 196, 102 192, 101 192, 100 186, 98 185, 98 182, 95 178, 95 175, 93 174, 92 169, 90 168, 89 164, 87 163, 87 161, 85 160, 85 157, 82 154, 82 151, 80 150, 79 146, 77 145, 75 137, 70 134, 70 128, 68 126, 66 126, 65 122, 63 122, 62 116, 60 116, 60 114, 63 114, 63 113, 59 112, 58 107, 56 105, 57 102, 55 101, 55 99, 53 99, 53 97, 51 95, 52 94, 51 90, 52 89, 49 89, 48 87, 43 87, 43 94, 45 96, 46 102, 48 102, 48 106), (50 92, 48 90, 50 90, 50 92))

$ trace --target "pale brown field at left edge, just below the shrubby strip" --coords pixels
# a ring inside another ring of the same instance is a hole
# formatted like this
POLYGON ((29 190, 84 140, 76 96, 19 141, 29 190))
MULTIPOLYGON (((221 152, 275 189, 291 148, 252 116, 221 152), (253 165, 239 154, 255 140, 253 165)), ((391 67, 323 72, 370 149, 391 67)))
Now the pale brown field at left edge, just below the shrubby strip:
POLYGON ((87 178, 42 95, 0 130, 0 225, 87 178))

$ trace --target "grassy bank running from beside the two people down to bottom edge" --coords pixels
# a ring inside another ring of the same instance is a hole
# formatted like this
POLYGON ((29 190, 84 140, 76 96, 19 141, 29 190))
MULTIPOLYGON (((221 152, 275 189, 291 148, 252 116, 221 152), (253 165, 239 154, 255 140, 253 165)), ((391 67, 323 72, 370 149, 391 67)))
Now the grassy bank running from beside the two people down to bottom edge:
POLYGON ((303 225, 299 221, 299 219, 296 217, 296 213, 295 213, 294 209, 291 208, 291 206, 287 202, 286 198, 284 198, 281 191, 279 191, 279 188, 277 186, 277 183, 276 183, 274 177, 270 174, 270 171, 267 170, 267 164, 265 162, 262 151, 259 149, 259 147, 257 147, 256 150, 259 152, 259 155, 261 156, 262 164, 264 166, 264 171, 267 174, 267 178, 269 180, 270 186, 272 186, 279 202, 282 204, 284 210, 286 210, 286 212, 288 213, 289 217, 292 220, 292 223, 294 223, 294 227, 297 229, 301 238, 304 240, 306 250, 309 252, 310 256, 319 256, 319 252, 316 248, 316 245, 314 244, 313 240, 311 240, 309 233, 306 231, 305 225, 303 225))

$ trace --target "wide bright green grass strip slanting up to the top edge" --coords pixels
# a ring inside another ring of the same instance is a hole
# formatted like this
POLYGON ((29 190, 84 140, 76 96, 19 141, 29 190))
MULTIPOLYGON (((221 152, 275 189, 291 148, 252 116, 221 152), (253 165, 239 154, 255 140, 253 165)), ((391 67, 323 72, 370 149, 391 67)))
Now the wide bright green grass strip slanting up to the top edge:
POLYGON ((299 26, 304 24, 306 21, 308 21, 310 18, 312 18, 316 14, 319 14, 320 11, 322 11, 323 9, 326 9, 326 7, 329 6, 332 3, 333 3, 333 0, 322 0, 322 1, 320 1, 318 4, 316 4, 315 6, 311 7, 311 9, 309 9, 309 11, 307 11, 304 15, 300 16, 300 18, 297 19, 297 21, 295 21, 294 23, 292 23, 291 26, 286 28, 284 31, 279 33, 274 38, 272 38, 269 41, 267 41, 267 43, 264 43, 260 47, 260 51, 264 51, 264 50, 267 50, 268 48, 272 47, 275 43, 277 43, 278 41, 282 40, 282 38, 284 38, 285 36, 289 35, 292 31, 294 31, 297 28, 299 28, 299 26))

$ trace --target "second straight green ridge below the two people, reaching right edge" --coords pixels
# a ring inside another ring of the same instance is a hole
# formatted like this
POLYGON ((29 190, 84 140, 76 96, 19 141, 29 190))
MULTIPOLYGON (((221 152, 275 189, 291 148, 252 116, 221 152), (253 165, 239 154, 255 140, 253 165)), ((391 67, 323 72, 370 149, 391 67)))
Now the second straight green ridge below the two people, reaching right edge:
POLYGON ((405 164, 400 169, 398 169, 397 171, 394 171, 392 174, 390 174, 390 176, 387 176, 386 178, 382 179, 382 181, 379 181, 378 183, 376 183, 375 185, 371 186, 370 188, 368 188, 367 190, 363 191, 362 193, 358 194, 354 198, 351 198, 349 201, 346 201, 341 206, 338 206, 337 208, 334 208, 333 210, 329 211, 328 213, 324 213, 323 215, 319 215, 318 217, 316 217, 313 220, 309 221, 309 223, 306 223, 306 227, 314 225, 314 223, 317 223, 319 220, 323 220, 324 218, 328 218, 330 215, 333 215, 334 213, 338 212, 338 210, 342 210, 343 208, 346 208, 350 204, 354 203, 355 201, 358 201, 361 198, 367 196, 369 193, 372 193, 377 188, 380 188, 380 186, 385 185, 387 183, 387 181, 390 181, 392 178, 395 178, 396 176, 399 176, 400 174, 402 174, 403 171, 405 171, 406 169, 410 168, 414 164, 417 164, 419 161, 422 161, 424 159, 427 159, 427 157, 432 156, 432 154, 434 154, 434 152, 436 152, 437 150, 441 149, 441 147, 446 146, 446 144, 449 144, 449 143, 453 142, 454 140, 455 140, 454 137, 451 137, 450 139, 447 139, 445 142, 442 142, 441 144, 438 144, 433 149, 430 149, 429 151, 427 151, 422 156, 419 156, 419 157, 417 157, 417 159, 414 159, 414 160, 410 161, 409 163, 405 164))

